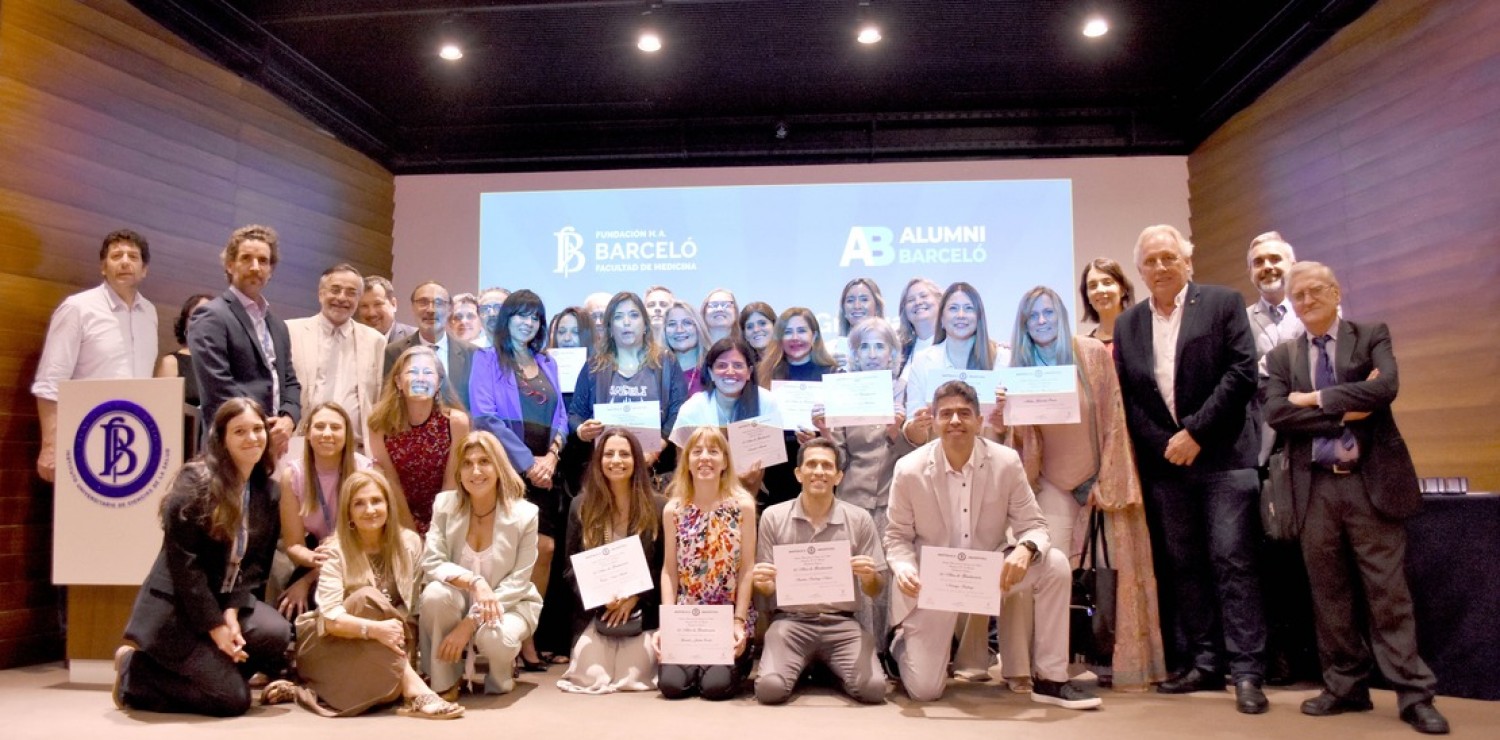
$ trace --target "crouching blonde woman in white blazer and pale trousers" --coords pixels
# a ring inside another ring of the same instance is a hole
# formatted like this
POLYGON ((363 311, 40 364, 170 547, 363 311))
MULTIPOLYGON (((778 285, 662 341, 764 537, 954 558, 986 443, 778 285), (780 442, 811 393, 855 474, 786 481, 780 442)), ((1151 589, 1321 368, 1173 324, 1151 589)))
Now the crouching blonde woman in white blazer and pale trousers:
POLYGON ((448 462, 459 485, 432 506, 422 569, 417 626, 422 663, 432 687, 452 701, 464 675, 464 653, 489 659, 486 693, 507 693, 512 665, 542 614, 531 584, 537 564, 537 506, 510 467, 500 440, 470 432, 448 462))

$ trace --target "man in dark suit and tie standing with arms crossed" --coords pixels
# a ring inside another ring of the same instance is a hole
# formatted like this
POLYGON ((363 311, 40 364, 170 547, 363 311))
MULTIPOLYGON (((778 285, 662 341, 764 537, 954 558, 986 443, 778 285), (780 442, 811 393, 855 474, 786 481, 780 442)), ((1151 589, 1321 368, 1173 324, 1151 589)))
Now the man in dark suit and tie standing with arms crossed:
POLYGON ((1340 318, 1341 291, 1328 266, 1294 264, 1287 293, 1306 336, 1266 356, 1266 420, 1290 459, 1317 614, 1323 693, 1302 702, 1302 713, 1371 710, 1374 657, 1396 690, 1401 719, 1446 734, 1432 705, 1436 678, 1416 650, 1404 570, 1404 519, 1422 494, 1390 416, 1400 387, 1390 332, 1340 318), (1356 608, 1359 596, 1365 609, 1356 608), (1368 626, 1368 642, 1358 624, 1368 626))

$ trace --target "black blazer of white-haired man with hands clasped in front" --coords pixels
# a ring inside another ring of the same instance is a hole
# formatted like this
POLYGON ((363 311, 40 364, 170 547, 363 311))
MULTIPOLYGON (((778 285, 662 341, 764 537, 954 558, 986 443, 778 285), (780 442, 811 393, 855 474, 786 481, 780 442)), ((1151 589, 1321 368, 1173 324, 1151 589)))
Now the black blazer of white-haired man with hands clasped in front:
POLYGON ((1178 422, 1161 399, 1155 365, 1150 302, 1143 300, 1114 323, 1114 369, 1140 471, 1172 474, 1182 470, 1164 456, 1167 440, 1179 429, 1186 429, 1203 447, 1190 470, 1254 468, 1260 431, 1248 407, 1257 386, 1256 338, 1250 333, 1239 293, 1188 284, 1173 389, 1178 422))

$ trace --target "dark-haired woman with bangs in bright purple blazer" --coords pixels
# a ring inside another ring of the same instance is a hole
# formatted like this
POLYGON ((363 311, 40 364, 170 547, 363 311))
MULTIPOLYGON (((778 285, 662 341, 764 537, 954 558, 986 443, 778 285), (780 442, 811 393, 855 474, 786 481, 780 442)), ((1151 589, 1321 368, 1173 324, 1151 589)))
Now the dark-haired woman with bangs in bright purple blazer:
MULTIPOLYGON (((530 290, 518 290, 500 308, 490 347, 474 354, 470 372, 470 414, 476 431, 500 438, 512 467, 526 482, 526 500, 540 509, 537 566, 531 582, 548 591, 552 552, 562 536, 561 486, 554 485, 558 455, 567 441, 567 404, 558 366, 542 351, 546 344, 546 306, 530 290)), ((520 650, 528 669, 544 669, 536 645, 520 650)))

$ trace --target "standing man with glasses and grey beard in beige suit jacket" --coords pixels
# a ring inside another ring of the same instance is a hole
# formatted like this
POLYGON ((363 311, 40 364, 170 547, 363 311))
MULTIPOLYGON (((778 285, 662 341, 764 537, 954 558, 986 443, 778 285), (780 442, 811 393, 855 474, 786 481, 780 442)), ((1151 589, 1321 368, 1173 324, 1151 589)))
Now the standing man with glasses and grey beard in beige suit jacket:
POLYGON ((302 381, 303 416, 318 404, 333 401, 350 413, 358 449, 364 449, 370 407, 380 398, 386 336, 358 321, 364 281, 350 264, 334 264, 318 279, 316 315, 286 321, 291 333, 291 365, 302 381))

